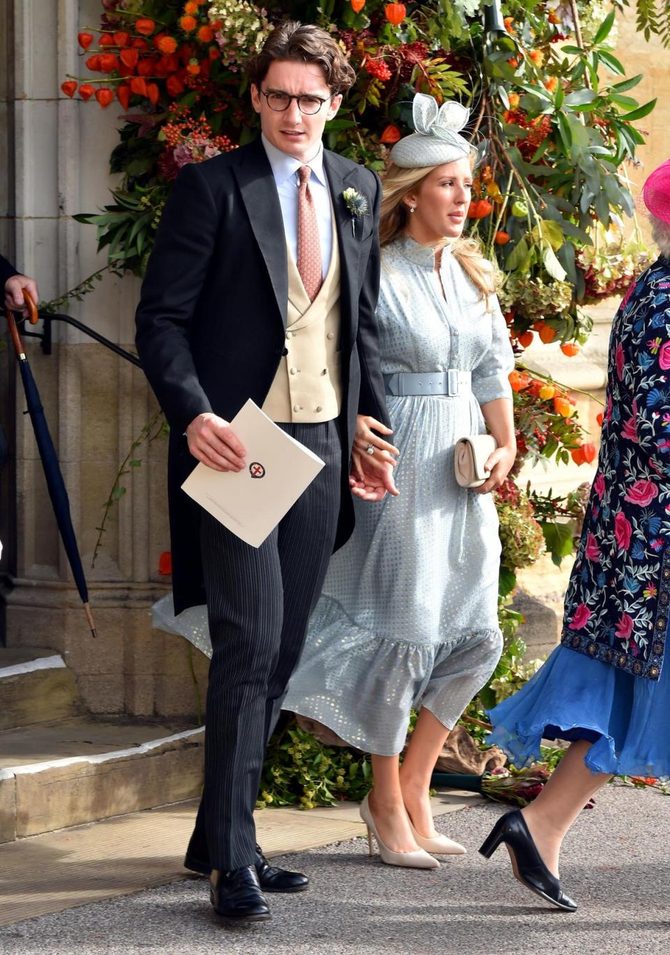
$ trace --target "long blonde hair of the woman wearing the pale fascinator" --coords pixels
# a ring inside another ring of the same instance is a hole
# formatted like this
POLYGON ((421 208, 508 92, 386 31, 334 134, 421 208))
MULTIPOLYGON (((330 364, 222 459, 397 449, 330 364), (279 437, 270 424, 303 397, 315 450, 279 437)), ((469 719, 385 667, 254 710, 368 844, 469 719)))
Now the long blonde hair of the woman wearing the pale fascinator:
MULTIPOLYGON (((422 166, 419 169, 401 169, 392 164, 388 167, 383 180, 380 244, 387 245, 405 232, 410 215, 404 202, 405 197, 409 192, 420 191, 423 181, 434 168, 435 166, 422 166)), ((481 292, 481 297, 486 300, 487 311, 490 311, 489 296, 497 291, 500 285, 497 267, 485 258, 475 239, 460 238, 449 242, 445 238, 442 242, 435 243, 435 248, 442 248, 446 244, 450 245, 451 254, 455 256, 472 285, 481 292)))

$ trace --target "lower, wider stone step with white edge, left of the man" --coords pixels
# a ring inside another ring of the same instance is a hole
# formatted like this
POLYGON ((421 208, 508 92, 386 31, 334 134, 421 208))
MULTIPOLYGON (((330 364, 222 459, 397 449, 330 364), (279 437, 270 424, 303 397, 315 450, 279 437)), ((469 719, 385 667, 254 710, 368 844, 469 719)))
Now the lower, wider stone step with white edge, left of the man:
POLYGON ((0 732, 0 842, 199 796, 204 732, 78 716, 0 732))

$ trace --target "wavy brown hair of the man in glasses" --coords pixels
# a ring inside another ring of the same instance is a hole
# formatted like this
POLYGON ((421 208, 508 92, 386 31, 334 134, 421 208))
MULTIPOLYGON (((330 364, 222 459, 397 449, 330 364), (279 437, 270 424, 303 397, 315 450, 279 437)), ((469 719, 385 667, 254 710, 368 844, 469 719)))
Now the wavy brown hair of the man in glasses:
POLYGON ((333 94, 346 93, 356 80, 342 48, 329 33, 311 23, 284 20, 269 34, 261 52, 247 60, 246 73, 257 87, 274 60, 316 63, 324 71, 333 94))

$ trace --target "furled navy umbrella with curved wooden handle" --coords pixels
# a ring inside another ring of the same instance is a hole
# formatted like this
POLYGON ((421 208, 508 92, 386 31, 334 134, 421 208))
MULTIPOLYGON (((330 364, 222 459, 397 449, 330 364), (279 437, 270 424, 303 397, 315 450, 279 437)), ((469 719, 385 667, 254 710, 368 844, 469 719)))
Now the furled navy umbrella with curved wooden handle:
MULTIPOLYGON (((34 325, 37 322, 37 308, 35 308, 35 304, 27 291, 24 291, 24 295, 28 308, 30 309, 31 324, 34 325)), ((63 481, 58 457, 53 447, 52 435, 49 434, 49 426, 44 416, 42 402, 39 392, 37 391, 37 386, 35 385, 35 380, 32 377, 31 366, 28 364, 21 336, 16 328, 14 316, 9 309, 5 310, 5 315, 7 316, 11 341, 13 342, 21 370, 23 388, 26 393, 26 405, 28 407, 28 413, 31 415, 32 430, 35 433, 39 456, 42 458, 44 476, 47 478, 47 487, 49 488, 49 497, 52 499, 53 513, 55 514, 58 530, 60 531, 60 536, 65 546, 65 552, 68 555, 68 561, 73 570, 74 583, 84 604, 86 619, 91 627, 91 632, 94 637, 96 637, 97 631, 91 613, 91 606, 89 605, 89 591, 81 565, 81 558, 79 557, 79 548, 77 547, 76 538, 74 537, 73 519, 70 514, 70 500, 68 499, 68 492, 65 490, 65 482, 63 481)))

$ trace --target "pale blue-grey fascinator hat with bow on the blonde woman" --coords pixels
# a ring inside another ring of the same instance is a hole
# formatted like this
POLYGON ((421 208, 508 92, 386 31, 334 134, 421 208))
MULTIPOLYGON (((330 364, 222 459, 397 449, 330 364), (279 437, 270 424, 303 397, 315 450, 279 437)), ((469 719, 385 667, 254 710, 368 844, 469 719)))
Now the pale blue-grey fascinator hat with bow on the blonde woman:
POLYGON ((484 159, 485 139, 475 146, 459 135, 470 119, 466 106, 451 99, 438 107, 434 96, 417 93, 412 119, 416 132, 399 139, 390 151, 391 162, 401 169, 441 166, 466 156, 473 156, 476 166, 484 159))

